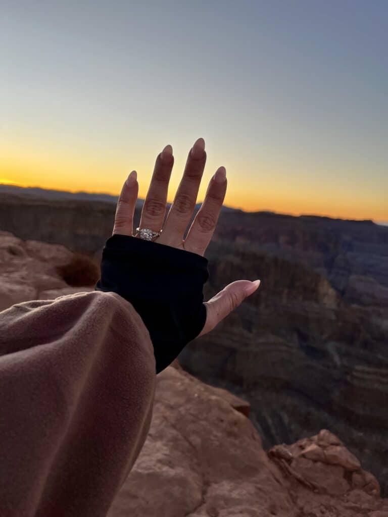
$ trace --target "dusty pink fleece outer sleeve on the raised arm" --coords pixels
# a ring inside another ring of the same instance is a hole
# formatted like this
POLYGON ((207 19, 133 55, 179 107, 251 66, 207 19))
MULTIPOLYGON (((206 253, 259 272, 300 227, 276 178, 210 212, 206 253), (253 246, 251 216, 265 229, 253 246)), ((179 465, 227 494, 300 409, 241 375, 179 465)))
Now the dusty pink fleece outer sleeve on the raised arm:
POLYGON ((154 392, 150 334, 117 294, 0 312, 0 515, 105 516, 145 441, 154 392))

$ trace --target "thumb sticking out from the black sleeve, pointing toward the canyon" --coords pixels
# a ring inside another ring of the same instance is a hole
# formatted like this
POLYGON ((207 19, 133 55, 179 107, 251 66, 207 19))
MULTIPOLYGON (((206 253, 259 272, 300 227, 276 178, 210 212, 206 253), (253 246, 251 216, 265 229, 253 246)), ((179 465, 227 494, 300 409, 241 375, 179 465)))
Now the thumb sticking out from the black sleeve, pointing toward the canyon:
POLYGON ((199 334, 203 336, 238 307, 249 295, 254 293, 260 285, 260 280, 236 280, 228 284, 213 298, 205 301, 206 322, 199 334))

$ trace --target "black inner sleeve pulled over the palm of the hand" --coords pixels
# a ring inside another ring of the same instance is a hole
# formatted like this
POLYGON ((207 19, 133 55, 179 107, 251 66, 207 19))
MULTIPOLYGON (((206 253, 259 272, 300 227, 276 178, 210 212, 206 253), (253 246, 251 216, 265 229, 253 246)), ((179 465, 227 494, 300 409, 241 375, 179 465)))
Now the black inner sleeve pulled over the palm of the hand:
POLYGON ((102 250, 95 290, 113 291, 135 307, 150 332, 156 373, 204 327, 207 264, 197 253, 128 235, 113 235, 102 250))

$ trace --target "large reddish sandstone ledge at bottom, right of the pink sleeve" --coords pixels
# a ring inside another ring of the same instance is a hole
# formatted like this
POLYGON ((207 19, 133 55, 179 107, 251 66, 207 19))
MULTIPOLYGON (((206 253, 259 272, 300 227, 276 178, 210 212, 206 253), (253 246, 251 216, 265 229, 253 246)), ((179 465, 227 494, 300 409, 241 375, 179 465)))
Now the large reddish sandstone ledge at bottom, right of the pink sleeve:
POLYGON ((340 447, 339 457, 347 458, 330 431, 266 454, 251 422, 230 402, 225 390, 182 370, 160 373, 150 432, 108 517, 384 515, 388 500, 366 491, 374 476, 357 468, 349 477, 341 465, 305 457, 340 447))

